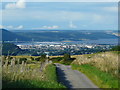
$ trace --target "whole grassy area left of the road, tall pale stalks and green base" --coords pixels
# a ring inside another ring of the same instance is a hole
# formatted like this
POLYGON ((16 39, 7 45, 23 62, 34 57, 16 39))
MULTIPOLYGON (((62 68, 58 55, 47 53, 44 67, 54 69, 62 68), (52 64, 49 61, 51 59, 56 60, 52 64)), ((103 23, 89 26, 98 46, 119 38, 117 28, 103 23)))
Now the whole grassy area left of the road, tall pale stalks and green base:
POLYGON ((37 64, 20 64, 18 58, 3 60, 3 88, 64 88, 57 82, 56 67, 48 60, 37 64))

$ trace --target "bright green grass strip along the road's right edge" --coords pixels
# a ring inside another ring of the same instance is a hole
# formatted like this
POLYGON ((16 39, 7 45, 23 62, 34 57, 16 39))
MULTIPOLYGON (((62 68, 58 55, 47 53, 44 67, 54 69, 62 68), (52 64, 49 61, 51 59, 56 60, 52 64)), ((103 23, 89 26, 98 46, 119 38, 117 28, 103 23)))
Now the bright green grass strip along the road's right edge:
POLYGON ((103 72, 92 65, 72 64, 72 69, 79 70, 84 73, 100 88, 118 88, 118 79, 116 77, 109 73, 103 72))

